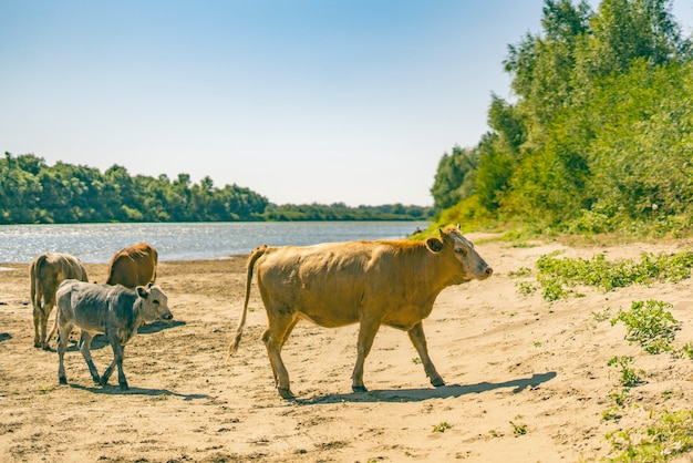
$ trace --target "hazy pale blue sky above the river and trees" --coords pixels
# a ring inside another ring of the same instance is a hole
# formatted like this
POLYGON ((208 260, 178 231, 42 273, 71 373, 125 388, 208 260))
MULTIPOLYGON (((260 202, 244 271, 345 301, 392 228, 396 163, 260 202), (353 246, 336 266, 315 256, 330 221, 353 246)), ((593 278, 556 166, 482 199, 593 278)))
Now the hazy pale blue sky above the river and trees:
MULTIPOLYGON (((277 204, 431 205, 542 4, 0 0, 0 150, 277 204)), ((690 33, 693 1, 673 12, 690 33)))

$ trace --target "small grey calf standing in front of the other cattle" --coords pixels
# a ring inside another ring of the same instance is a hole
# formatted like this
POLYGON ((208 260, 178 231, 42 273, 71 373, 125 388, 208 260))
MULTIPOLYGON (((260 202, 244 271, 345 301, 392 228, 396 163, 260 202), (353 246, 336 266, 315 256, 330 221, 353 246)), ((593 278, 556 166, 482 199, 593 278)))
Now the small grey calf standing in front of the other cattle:
POLYGON ((73 327, 81 330, 80 351, 86 361, 96 384, 106 385, 115 366, 118 369, 118 385, 127 390, 123 373, 123 350, 137 328, 156 320, 170 321, 168 298, 159 288, 149 284, 135 289, 122 285, 96 285, 77 280, 65 280, 55 294, 58 303, 58 380, 66 384, 63 359, 73 327), (113 361, 100 378, 90 352, 92 338, 105 333, 113 349, 113 361))

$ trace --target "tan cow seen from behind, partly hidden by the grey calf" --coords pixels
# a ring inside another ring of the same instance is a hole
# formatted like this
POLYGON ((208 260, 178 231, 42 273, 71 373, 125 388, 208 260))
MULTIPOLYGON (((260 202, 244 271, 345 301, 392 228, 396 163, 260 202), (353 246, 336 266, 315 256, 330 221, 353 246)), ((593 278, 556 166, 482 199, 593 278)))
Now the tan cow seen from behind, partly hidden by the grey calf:
POLYGON ((48 349, 48 343, 58 329, 58 319, 45 336, 48 318, 55 305, 58 286, 73 278, 86 281, 86 269, 74 256, 61 253, 43 253, 29 266, 31 280, 31 305, 33 306, 33 346, 48 349))

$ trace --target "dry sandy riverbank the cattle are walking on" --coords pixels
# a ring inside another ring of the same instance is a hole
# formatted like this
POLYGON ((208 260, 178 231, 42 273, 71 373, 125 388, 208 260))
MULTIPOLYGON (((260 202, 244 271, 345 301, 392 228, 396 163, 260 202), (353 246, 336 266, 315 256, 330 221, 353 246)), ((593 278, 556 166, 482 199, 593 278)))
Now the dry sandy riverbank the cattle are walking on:
MULTIPOLYGON (((470 235, 475 239, 483 236, 470 235)), ((298 400, 282 400, 260 336, 265 310, 254 284, 248 325, 236 357, 228 346, 242 309, 245 256, 163 261, 158 282, 175 316, 125 348, 128 391, 115 375, 95 385, 74 344, 65 356, 33 347, 29 266, 1 264, 0 461, 46 462, 577 462, 614 456, 609 432, 647 426, 662 410, 691 409, 693 361, 648 354, 608 315, 634 300, 671 302, 681 321, 675 348, 693 343, 691 279, 556 302, 521 295, 513 271, 554 250, 608 259, 674 253, 691 243, 590 247, 536 243, 477 245, 494 267, 485 281, 451 287, 424 321, 428 349, 446 387, 433 388, 405 333, 381 328, 365 363, 369 392, 352 393, 356 326, 301 322, 283 349, 298 400), (631 356, 645 382, 630 390, 620 419, 603 419, 621 391, 614 356, 631 356)), ((164 256, 165 257, 165 256, 164 256)), ((105 280, 105 265, 86 266, 105 280)), ((52 318, 52 317, 51 317, 52 318)), ((50 328, 50 327, 49 327, 50 328)), ((76 337, 73 333, 73 339, 76 337)), ((102 337, 100 371, 112 351, 102 337)), ((679 461, 693 461, 692 454, 679 461)))

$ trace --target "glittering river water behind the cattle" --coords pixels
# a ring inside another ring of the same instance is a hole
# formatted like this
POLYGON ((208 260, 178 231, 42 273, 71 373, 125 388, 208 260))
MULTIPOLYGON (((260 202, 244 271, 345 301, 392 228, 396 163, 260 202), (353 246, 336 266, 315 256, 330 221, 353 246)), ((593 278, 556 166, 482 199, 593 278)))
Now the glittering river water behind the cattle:
POLYGON ((220 259, 256 246, 404 238, 425 222, 80 224, 0 226, 0 263, 28 264, 45 251, 106 264, 118 249, 147 241, 165 260, 220 259))

